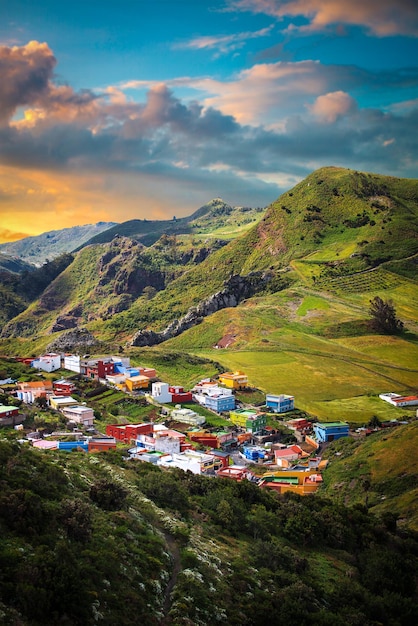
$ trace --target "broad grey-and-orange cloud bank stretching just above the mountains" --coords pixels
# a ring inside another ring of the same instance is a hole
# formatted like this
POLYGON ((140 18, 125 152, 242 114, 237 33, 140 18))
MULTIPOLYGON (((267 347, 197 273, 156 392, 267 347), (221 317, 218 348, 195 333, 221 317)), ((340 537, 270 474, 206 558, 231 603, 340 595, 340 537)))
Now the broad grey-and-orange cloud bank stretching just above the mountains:
POLYGON ((414 69, 264 63, 225 81, 130 81, 96 94, 57 85, 46 44, 0 50, 0 211, 12 232, 86 216, 187 215, 214 196, 263 206, 329 164, 416 172, 418 106, 403 96, 418 84, 414 69), (138 84, 136 101, 125 90, 138 84), (195 99, 180 98, 179 87, 195 99), (367 89, 396 93, 398 106, 361 106, 367 89))

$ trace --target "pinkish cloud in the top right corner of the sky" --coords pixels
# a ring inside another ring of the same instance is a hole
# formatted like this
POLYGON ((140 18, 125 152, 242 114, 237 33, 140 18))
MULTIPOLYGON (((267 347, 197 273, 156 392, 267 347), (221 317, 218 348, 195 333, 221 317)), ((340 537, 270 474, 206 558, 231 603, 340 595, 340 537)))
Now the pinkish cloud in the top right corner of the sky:
POLYGON ((363 26, 372 35, 418 36, 416 0, 230 0, 231 10, 265 13, 278 19, 304 17, 306 31, 329 26, 363 26))

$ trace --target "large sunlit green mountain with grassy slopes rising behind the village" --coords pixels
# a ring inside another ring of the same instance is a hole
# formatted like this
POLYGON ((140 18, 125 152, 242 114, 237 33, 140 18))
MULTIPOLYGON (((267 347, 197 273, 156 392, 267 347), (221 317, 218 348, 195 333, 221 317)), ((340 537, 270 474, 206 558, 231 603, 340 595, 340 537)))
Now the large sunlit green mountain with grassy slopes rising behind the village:
POLYGON ((83 248, 5 324, 3 353, 46 349, 85 327, 133 358, 181 352, 242 369, 319 419, 396 419, 378 396, 417 393, 418 181, 323 168, 256 219, 235 237, 224 225, 229 241, 209 221, 150 247, 117 237, 83 248), (371 328, 375 296, 393 301, 403 332, 371 328), (232 344, 217 349, 225 336, 232 344))

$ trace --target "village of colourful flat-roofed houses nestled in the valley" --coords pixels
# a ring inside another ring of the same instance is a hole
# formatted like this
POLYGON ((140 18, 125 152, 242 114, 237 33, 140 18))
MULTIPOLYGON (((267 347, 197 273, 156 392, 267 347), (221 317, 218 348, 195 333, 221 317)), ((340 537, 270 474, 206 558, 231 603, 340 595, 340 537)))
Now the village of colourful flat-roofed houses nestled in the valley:
MULTIPOLYGON (((237 400, 237 394, 249 389, 249 381, 241 371, 224 372, 216 380, 201 380, 186 391, 159 380, 153 368, 131 366, 127 357, 53 353, 20 360, 39 373, 64 370, 71 374, 58 380, 40 377, 31 382, 0 381, 3 391, 7 389, 10 397, 21 403, 20 407, 0 406, 0 426, 21 431, 21 441, 39 450, 91 453, 122 447, 127 461, 235 481, 250 480, 278 493, 308 495, 323 481, 322 472, 328 461, 322 460, 321 450, 328 443, 359 432, 372 432, 363 428, 353 433, 344 421, 318 422, 298 416, 291 395, 267 393, 261 406, 244 404, 237 400), (155 408, 153 419, 107 423, 105 432, 101 432, 103 424, 97 427, 94 408, 73 397, 78 395, 81 380, 139 398, 141 403, 155 408), (25 432, 22 407, 35 404, 58 412, 65 429, 25 432), (222 416, 225 427, 208 427, 207 417, 199 413, 199 407, 206 414, 222 416)), ((416 396, 386 393, 380 398, 394 406, 418 404, 416 396)), ((379 427, 399 423, 394 420, 379 427)))

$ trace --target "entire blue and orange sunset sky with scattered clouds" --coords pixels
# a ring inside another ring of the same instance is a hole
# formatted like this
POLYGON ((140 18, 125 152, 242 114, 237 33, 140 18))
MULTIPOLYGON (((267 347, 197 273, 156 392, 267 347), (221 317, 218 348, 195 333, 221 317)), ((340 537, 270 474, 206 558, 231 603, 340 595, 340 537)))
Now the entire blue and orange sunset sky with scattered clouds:
POLYGON ((418 177, 416 0, 0 0, 0 242, 418 177))

